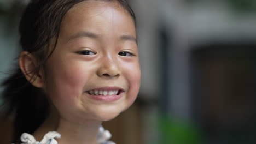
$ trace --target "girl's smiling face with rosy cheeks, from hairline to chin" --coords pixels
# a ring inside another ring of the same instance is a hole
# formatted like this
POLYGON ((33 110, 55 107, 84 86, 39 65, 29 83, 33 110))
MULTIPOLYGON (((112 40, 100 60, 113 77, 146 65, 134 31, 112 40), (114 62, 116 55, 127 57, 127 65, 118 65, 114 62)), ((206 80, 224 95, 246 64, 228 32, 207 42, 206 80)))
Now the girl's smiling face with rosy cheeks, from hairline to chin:
POLYGON ((68 11, 44 85, 62 118, 114 118, 136 99, 140 77, 136 29, 123 7, 84 1, 68 11))

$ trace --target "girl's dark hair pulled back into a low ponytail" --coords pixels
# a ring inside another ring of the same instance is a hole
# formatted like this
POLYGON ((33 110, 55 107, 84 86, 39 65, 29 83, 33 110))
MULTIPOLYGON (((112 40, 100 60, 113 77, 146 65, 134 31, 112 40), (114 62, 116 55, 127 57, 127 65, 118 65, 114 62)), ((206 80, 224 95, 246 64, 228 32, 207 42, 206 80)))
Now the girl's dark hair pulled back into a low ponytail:
MULTIPOLYGON (((19 32, 23 51, 32 53, 39 61, 36 72, 54 51, 59 37, 61 22, 67 11, 86 0, 31 0, 21 17, 19 32)), ((109 1, 109 0, 101 0, 109 1)), ((113 0, 114 1, 114 0, 113 0)), ((117 0, 129 12, 135 22, 135 14, 125 0, 117 0)), ((31 85, 19 67, 3 83, 3 107, 7 116, 14 118, 13 142, 22 133, 34 133, 49 115, 49 103, 42 89, 31 85)))

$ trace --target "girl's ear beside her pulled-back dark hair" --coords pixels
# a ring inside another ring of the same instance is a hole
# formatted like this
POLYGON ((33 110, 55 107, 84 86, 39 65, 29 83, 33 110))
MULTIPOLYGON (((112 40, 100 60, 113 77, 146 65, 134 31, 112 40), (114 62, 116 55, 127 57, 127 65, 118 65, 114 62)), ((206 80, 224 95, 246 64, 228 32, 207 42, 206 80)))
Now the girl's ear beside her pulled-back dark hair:
POLYGON ((35 87, 43 87, 43 70, 37 69, 37 59, 29 52, 23 51, 20 53, 19 65, 26 79, 35 87))

